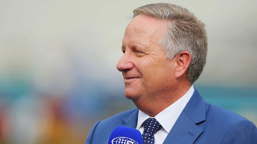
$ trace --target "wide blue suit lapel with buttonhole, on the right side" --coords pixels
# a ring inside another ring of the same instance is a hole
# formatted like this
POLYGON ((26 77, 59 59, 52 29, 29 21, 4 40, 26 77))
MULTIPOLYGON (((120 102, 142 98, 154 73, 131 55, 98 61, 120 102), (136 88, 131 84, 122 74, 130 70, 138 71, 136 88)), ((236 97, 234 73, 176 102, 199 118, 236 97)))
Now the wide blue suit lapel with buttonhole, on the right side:
POLYGON ((202 133, 196 124, 205 121, 206 102, 195 89, 163 144, 194 143, 202 133))

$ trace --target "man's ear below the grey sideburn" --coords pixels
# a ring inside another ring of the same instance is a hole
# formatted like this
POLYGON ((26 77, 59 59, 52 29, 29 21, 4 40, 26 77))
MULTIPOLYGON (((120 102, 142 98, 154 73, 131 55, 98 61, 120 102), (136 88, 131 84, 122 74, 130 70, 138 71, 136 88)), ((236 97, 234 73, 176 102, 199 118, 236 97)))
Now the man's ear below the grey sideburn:
POLYGON ((175 71, 175 77, 178 79, 186 73, 191 62, 191 54, 188 51, 182 51, 176 56, 176 60, 177 67, 175 71))

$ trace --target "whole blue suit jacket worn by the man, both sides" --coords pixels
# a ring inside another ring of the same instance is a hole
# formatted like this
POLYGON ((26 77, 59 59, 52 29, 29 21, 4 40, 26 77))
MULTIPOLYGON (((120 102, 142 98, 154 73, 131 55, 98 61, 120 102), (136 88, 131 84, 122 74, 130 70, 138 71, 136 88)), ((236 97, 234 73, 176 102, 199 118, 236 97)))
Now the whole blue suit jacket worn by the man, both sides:
MULTIPOLYGON (((98 121, 85 144, 106 144, 117 126, 135 128, 138 109, 98 121)), ((244 117, 206 102, 195 89, 163 144, 257 144, 256 126, 244 117)))

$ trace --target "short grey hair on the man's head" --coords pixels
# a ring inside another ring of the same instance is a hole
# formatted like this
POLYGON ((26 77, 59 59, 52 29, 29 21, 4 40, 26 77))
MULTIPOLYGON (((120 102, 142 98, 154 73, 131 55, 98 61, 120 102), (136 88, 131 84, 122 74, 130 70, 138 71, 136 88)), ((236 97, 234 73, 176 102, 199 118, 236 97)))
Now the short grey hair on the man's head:
POLYGON ((205 24, 186 8, 175 4, 148 4, 133 11, 135 18, 143 14, 168 21, 167 29, 160 38, 166 58, 172 59, 182 51, 191 54, 191 63, 187 69, 187 77, 193 84, 203 71, 207 56, 207 33, 205 24))

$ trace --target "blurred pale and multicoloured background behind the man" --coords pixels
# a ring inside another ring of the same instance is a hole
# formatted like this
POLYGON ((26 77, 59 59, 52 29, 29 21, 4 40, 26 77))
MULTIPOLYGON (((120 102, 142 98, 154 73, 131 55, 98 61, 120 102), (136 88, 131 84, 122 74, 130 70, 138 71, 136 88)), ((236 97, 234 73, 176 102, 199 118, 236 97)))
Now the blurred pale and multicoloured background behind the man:
MULTIPOLYGON (((0 0, 0 143, 84 143, 93 124, 134 104, 116 64, 132 11, 157 0, 0 0)), ((257 1, 173 0, 206 24, 194 86, 257 124, 257 1)))

